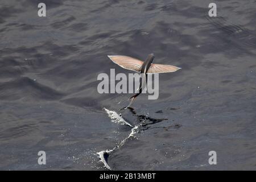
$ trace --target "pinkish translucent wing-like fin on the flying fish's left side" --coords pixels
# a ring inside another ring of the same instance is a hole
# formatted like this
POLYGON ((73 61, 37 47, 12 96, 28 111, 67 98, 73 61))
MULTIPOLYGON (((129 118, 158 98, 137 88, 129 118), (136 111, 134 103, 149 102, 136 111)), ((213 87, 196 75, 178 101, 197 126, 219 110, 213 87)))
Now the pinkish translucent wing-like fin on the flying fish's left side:
POLYGON ((115 64, 125 69, 140 72, 143 61, 129 56, 108 56, 115 64))

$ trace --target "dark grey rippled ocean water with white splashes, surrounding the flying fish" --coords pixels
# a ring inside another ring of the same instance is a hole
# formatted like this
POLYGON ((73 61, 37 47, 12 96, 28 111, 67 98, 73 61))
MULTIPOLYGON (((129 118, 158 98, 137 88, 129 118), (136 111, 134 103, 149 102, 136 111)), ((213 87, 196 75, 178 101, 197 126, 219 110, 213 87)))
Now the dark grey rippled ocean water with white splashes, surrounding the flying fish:
POLYGON ((255 170, 256 1, 211 2, 1 0, 0 169, 255 170), (97 92, 151 52, 157 100, 97 92))

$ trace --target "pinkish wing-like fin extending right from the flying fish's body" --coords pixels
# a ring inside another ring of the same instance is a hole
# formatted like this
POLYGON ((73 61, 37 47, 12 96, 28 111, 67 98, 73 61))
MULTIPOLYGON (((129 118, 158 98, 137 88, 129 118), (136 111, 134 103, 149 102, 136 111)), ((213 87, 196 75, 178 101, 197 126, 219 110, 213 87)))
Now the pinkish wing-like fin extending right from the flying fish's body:
POLYGON ((168 64, 151 64, 150 68, 148 68, 147 73, 168 73, 176 72, 179 69, 181 68, 168 64))

